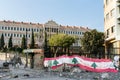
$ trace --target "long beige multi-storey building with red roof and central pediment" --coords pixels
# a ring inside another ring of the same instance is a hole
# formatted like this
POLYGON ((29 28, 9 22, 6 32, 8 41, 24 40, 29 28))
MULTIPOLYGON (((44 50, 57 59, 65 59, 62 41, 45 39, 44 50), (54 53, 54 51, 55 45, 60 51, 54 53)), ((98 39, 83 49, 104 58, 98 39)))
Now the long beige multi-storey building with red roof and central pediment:
POLYGON ((44 41, 44 31, 47 32, 47 37, 54 34, 64 33, 68 35, 77 36, 77 41, 73 46, 80 46, 80 38, 86 31, 90 31, 88 27, 77 26, 63 26, 57 24, 55 21, 50 20, 45 24, 40 23, 26 23, 15 21, 0 21, 0 36, 4 35, 5 45, 8 45, 10 36, 12 35, 12 42, 14 46, 21 46, 23 35, 27 37, 27 44, 30 44, 32 30, 35 34, 36 44, 44 41))

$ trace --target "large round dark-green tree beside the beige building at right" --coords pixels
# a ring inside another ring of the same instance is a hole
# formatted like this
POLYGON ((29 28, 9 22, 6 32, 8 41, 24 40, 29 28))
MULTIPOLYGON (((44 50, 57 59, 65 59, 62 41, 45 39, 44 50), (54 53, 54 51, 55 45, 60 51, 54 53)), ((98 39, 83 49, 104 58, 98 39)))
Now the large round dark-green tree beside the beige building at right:
POLYGON ((99 49, 103 48, 104 33, 98 32, 96 29, 85 32, 81 38, 81 44, 85 51, 97 55, 99 49))

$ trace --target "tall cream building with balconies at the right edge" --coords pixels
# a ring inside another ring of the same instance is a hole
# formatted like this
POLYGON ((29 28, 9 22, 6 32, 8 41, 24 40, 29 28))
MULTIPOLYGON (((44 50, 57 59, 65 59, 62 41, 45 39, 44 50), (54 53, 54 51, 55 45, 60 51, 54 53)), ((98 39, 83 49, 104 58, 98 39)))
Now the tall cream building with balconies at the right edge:
POLYGON ((104 0, 105 50, 120 54, 120 0, 104 0))

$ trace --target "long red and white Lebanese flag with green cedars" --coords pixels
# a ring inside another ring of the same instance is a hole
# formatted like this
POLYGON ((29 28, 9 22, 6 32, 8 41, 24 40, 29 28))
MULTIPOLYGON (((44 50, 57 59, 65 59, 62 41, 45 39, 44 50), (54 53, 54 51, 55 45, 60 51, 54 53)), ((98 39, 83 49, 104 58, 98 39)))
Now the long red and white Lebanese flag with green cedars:
POLYGON ((118 72, 118 70, 115 69, 113 62, 109 59, 94 59, 77 55, 63 55, 56 58, 44 59, 44 66, 49 66, 52 69, 57 69, 58 67, 63 66, 63 64, 78 66, 81 69, 92 72, 118 72))

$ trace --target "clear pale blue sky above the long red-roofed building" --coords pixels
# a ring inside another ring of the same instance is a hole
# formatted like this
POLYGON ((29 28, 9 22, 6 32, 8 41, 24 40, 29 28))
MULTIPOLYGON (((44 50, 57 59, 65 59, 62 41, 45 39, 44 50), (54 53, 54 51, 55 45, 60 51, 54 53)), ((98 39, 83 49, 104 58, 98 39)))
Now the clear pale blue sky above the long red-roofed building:
POLYGON ((0 0, 0 20, 85 26, 104 31, 103 0, 0 0))

